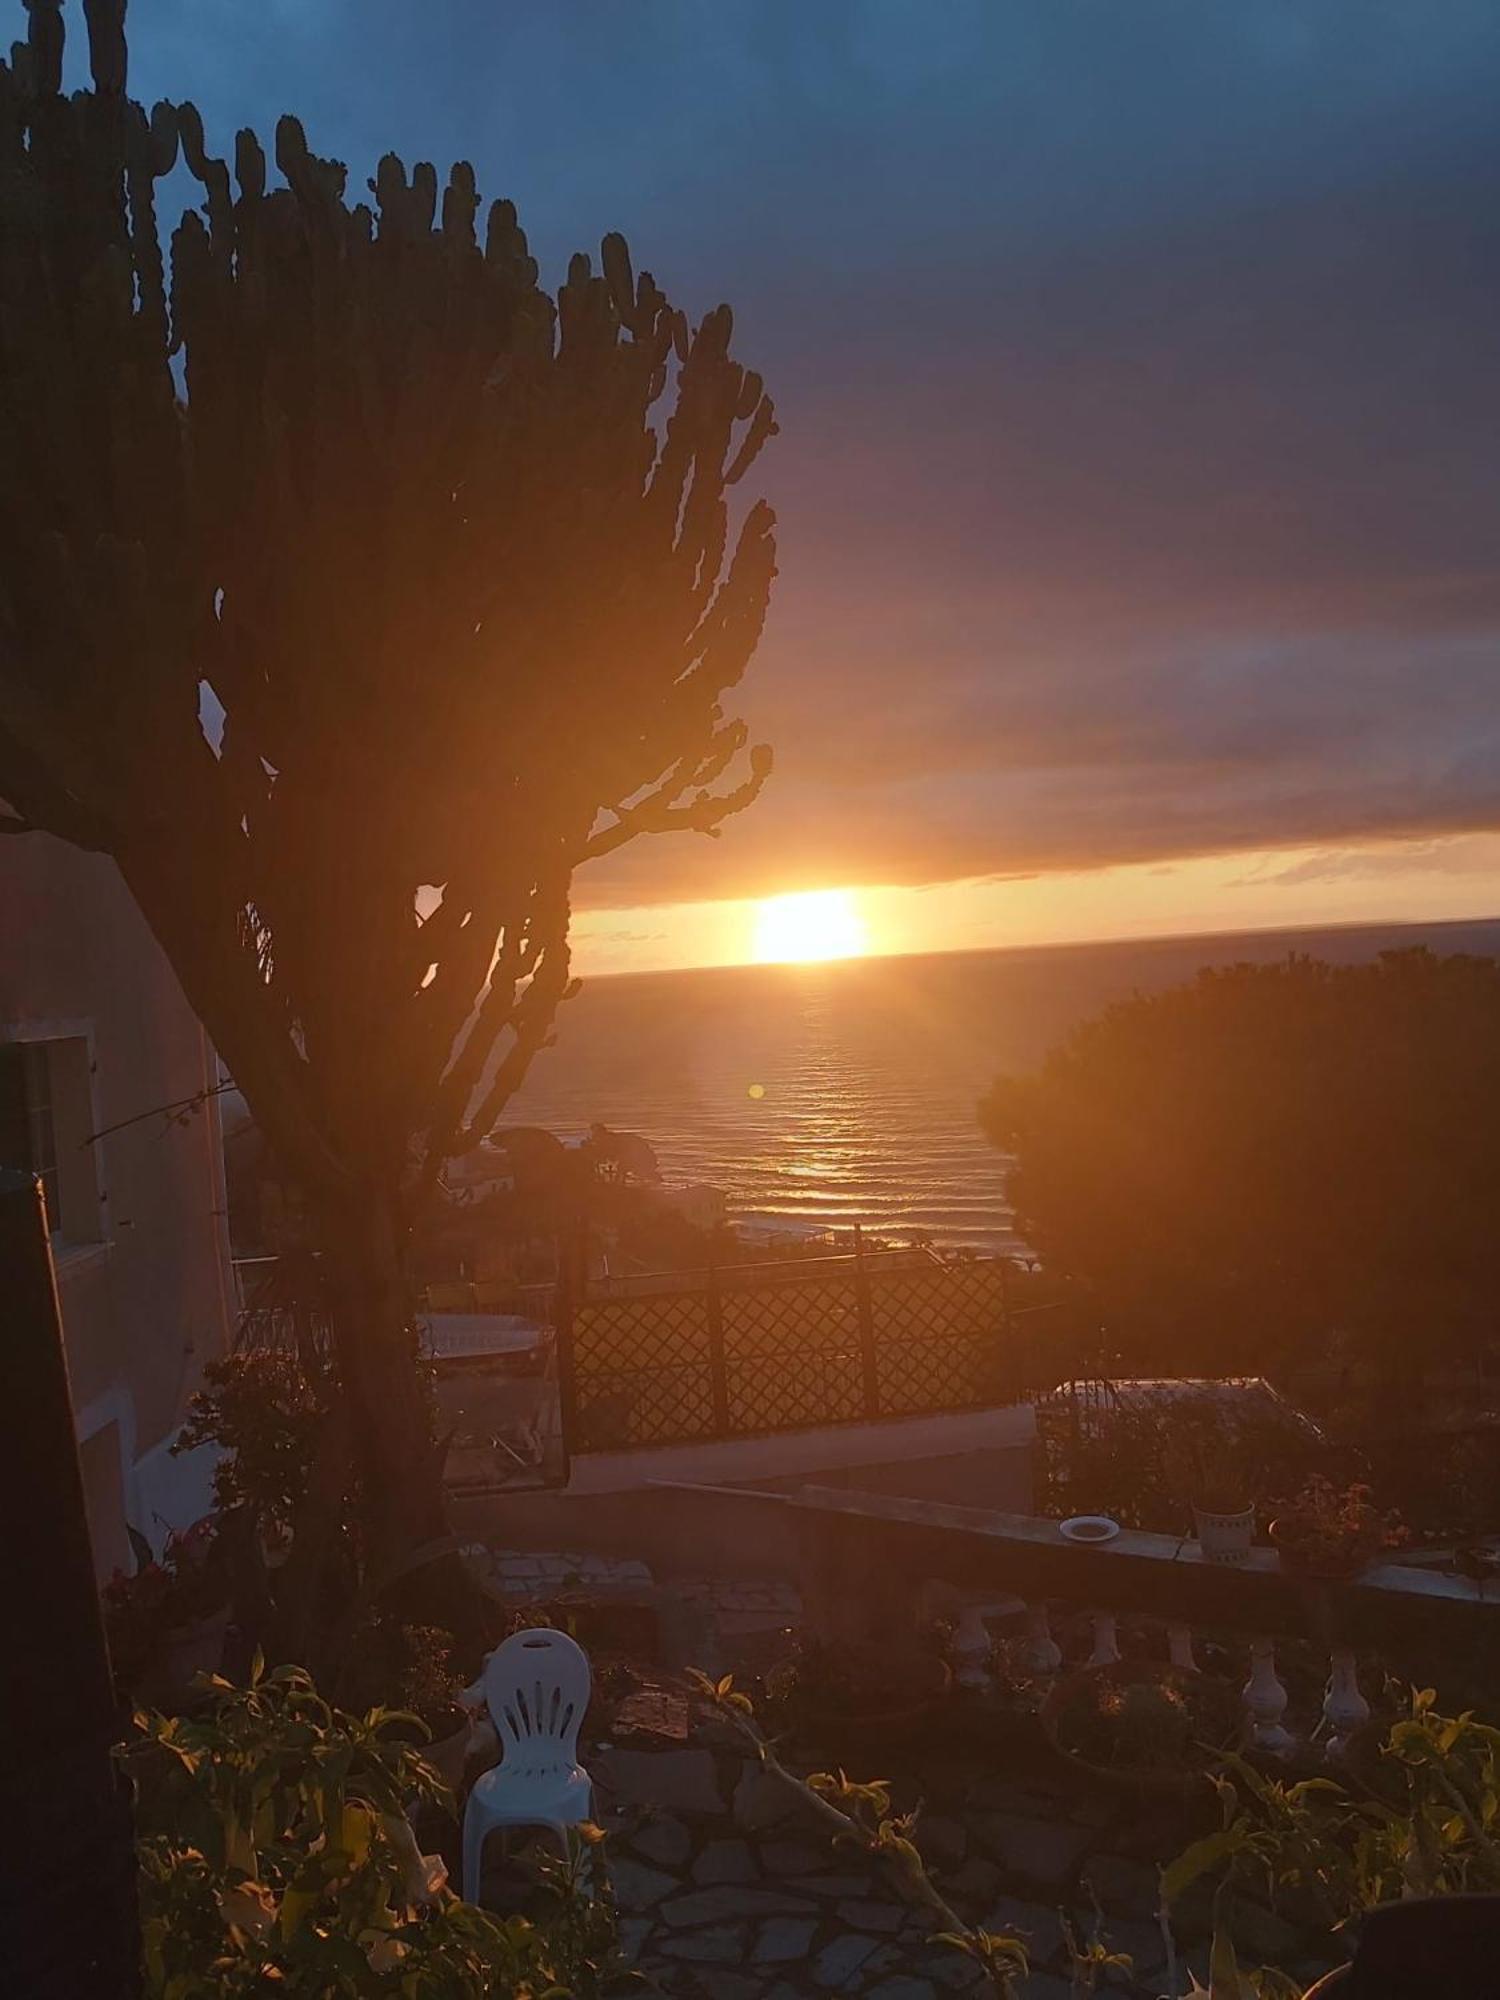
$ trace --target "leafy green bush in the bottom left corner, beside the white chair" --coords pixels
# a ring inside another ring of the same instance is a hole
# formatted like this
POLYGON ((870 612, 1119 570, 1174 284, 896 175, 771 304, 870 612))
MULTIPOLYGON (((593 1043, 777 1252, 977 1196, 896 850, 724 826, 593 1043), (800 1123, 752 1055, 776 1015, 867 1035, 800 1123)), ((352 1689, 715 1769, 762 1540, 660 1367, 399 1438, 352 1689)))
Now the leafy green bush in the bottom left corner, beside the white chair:
POLYGON ((136 1716, 148 2000, 234 1994, 590 1994, 610 1970, 608 1906, 582 1894, 584 1850, 556 1924, 500 1920, 446 1888, 406 1814, 446 1804, 408 1740, 414 1716, 330 1708, 300 1668, 218 1676, 194 1718, 136 1716))

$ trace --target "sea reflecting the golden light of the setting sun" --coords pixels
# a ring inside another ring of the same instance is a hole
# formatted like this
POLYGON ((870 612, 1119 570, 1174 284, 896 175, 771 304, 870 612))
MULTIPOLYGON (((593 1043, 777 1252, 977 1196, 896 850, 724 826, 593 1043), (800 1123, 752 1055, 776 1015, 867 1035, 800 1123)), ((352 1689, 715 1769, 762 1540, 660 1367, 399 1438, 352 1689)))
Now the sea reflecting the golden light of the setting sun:
POLYGON ((1018 1248, 976 1110, 994 1076, 1200 966, 1416 944, 1500 956, 1500 920, 614 974, 566 1002, 502 1124, 638 1132, 668 1182, 722 1190, 752 1236, 860 1224, 1018 1248))

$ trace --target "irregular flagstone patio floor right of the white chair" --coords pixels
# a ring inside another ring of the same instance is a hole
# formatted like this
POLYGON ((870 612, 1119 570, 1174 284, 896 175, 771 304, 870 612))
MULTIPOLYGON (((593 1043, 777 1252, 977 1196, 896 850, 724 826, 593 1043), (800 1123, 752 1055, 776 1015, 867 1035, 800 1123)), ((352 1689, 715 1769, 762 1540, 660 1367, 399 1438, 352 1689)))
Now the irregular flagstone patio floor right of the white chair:
MULTIPOLYGON (((974 1962, 930 1940, 928 1920, 878 1862, 832 1838, 796 1792, 746 1764, 712 1726, 600 1746, 592 1768, 622 1946, 658 1992, 942 2000, 978 1984, 974 1962)), ((1060 1910, 1080 1936, 1102 1912, 1110 1948, 1132 1956, 1128 1978, 1108 1976, 1120 2000, 1168 1992, 1152 1848, 1172 1852, 1176 1826, 1040 1774, 1018 1784, 934 1766, 922 1780, 928 1868, 960 1916, 1026 1942, 1028 2000, 1070 1992, 1060 1910)), ((902 1792, 912 1792, 910 1774, 898 1780, 898 1804, 910 1804, 902 1792)), ((1180 1960, 1180 1990, 1186 1964, 1202 1972, 1200 1950, 1180 1960)))

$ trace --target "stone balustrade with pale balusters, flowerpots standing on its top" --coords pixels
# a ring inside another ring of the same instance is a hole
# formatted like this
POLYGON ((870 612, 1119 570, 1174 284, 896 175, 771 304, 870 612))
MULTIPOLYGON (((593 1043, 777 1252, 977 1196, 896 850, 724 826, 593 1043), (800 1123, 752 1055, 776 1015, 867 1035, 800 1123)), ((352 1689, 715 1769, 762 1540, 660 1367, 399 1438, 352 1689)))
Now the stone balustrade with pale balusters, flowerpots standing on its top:
MULTIPOLYGON (((718 1488, 720 1502, 724 1488, 718 1488)), ((1250 1740, 1268 1752, 1296 1748, 1288 1690, 1276 1666, 1280 1640, 1308 1640, 1328 1662, 1316 1732, 1338 1754, 1370 1718, 1358 1658, 1398 1658, 1402 1648, 1468 1652, 1500 1628, 1500 1592, 1426 1568, 1384 1564, 1356 1582, 1314 1584, 1280 1568, 1276 1550, 1256 1548, 1244 1564, 1210 1562, 1194 1542, 1124 1530, 1082 1546, 1058 1522, 1030 1514, 946 1506, 888 1494, 804 1486, 794 1494, 736 1490, 760 1510, 800 1520, 804 1620, 822 1638, 890 1644, 912 1608, 946 1598, 956 1618, 952 1658, 960 1684, 988 1686, 998 1612, 1020 1622, 1024 1670, 1046 1686, 1064 1666, 1054 1622, 1060 1608, 1082 1612, 1090 1666, 1120 1658, 1122 1616, 1158 1632, 1162 1660, 1190 1670, 1202 1634, 1244 1646, 1242 1700, 1250 1740), (936 1594, 934 1594, 936 1586, 936 1594)))

